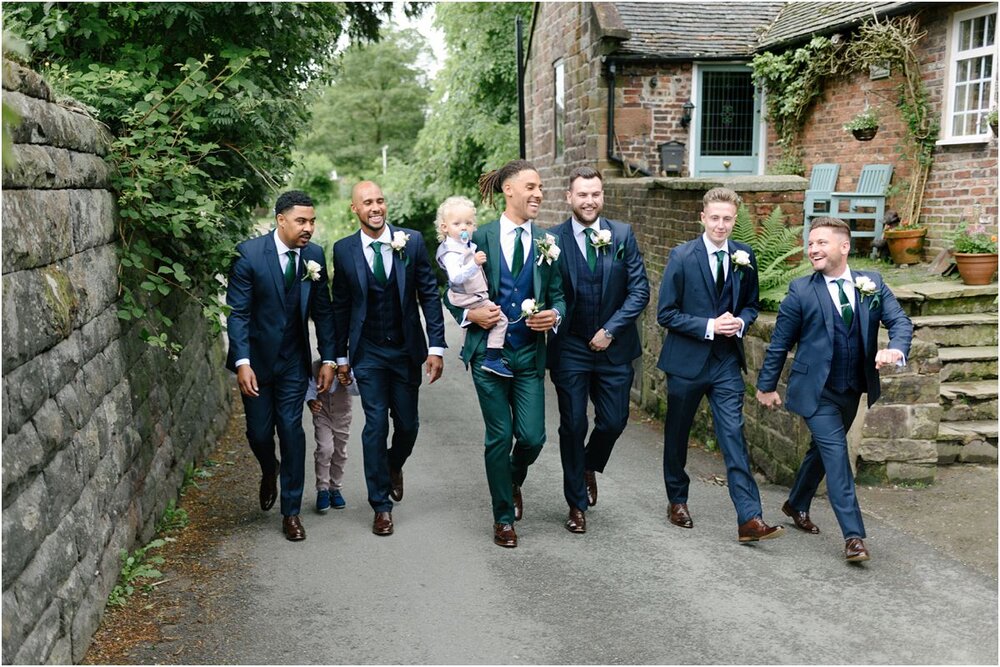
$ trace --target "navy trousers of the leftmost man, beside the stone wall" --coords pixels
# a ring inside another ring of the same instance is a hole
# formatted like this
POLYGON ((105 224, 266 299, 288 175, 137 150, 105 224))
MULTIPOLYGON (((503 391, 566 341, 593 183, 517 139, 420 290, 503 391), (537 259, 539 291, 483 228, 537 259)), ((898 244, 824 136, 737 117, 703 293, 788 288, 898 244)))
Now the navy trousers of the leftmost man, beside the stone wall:
POLYGON ((306 434, 302 429, 302 406, 309 376, 302 360, 282 360, 274 378, 260 383, 259 396, 243 396, 247 419, 247 441, 264 474, 274 474, 274 434, 281 453, 281 513, 293 516, 302 505, 305 484, 306 434))

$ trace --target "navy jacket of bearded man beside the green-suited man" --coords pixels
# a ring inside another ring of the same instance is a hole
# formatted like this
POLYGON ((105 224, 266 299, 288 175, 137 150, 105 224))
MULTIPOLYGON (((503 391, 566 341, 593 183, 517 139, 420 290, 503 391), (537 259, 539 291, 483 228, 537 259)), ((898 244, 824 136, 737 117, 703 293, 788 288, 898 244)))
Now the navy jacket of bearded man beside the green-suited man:
MULTIPOLYGON (((649 279, 646 277, 646 265, 642 261, 632 227, 606 218, 600 218, 598 226, 611 230, 611 245, 598 250, 597 254, 597 261, 604 272, 601 280, 600 318, 604 322, 604 328, 614 336, 606 354, 612 364, 627 364, 642 356, 639 329, 635 321, 649 303, 649 279)), ((572 218, 556 225, 549 233, 559 239, 558 244, 563 253, 580 252, 573 237, 572 218)), ((576 262, 561 255, 556 266, 562 274, 566 313, 559 331, 549 336, 547 356, 548 367, 552 370, 559 368, 562 344, 573 326, 577 282, 576 262)))

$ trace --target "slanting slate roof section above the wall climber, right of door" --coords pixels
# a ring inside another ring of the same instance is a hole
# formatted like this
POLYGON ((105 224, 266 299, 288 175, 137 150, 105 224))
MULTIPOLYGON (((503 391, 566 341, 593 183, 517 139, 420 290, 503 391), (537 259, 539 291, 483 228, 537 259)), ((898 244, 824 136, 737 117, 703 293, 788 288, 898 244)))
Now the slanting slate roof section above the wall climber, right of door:
POLYGON ((912 2, 789 2, 761 39, 759 50, 859 25, 871 18, 873 11, 881 17, 913 5, 912 2))

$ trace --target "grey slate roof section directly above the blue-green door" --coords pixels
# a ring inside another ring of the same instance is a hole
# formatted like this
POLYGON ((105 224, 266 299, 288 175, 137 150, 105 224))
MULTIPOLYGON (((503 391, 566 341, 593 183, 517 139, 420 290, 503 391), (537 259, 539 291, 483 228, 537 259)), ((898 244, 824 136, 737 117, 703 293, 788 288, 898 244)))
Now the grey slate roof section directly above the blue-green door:
POLYGON ((784 2, 616 2, 630 37, 615 55, 649 59, 746 57, 784 2))

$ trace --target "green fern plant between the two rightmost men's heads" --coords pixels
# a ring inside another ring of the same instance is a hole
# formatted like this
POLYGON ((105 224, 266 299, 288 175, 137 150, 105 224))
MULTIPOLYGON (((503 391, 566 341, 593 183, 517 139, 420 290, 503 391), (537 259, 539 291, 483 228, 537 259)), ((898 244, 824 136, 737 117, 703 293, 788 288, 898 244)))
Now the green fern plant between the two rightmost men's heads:
POLYGON ((806 261, 788 263, 790 257, 802 252, 799 243, 802 227, 786 227, 780 206, 775 206, 769 216, 755 225, 750 211, 740 204, 731 238, 753 248, 757 256, 757 282, 761 304, 765 307, 779 303, 788 289, 788 283, 809 269, 806 261))

